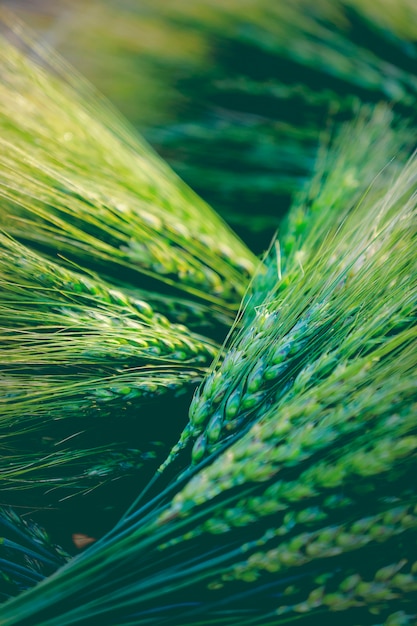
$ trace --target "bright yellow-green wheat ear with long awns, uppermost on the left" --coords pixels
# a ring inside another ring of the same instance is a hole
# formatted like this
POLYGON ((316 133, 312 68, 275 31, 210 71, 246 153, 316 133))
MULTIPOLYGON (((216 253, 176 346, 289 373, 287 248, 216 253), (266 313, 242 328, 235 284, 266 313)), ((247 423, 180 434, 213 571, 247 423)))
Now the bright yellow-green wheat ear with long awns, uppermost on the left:
POLYGON ((2 224, 131 286, 236 310, 256 258, 91 88, 2 36, 2 224))

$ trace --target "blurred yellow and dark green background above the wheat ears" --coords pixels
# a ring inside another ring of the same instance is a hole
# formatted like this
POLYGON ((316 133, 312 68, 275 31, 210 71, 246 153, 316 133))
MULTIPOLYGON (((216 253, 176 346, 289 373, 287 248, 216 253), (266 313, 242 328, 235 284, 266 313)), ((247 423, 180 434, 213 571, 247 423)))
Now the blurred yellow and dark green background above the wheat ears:
POLYGON ((256 252, 361 102, 416 115, 415 0, 1 0, 256 252))

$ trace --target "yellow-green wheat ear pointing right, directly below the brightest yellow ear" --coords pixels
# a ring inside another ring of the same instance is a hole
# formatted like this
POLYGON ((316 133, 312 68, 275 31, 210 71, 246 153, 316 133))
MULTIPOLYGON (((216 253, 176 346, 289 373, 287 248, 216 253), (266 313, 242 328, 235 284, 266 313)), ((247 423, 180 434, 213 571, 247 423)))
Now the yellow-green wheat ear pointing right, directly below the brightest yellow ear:
POLYGON ((209 364, 214 342, 139 298, 63 268, 0 235, 3 363, 125 367, 209 364), (13 322, 12 322, 13 320, 13 322), (8 334, 8 328, 15 335, 8 334))

